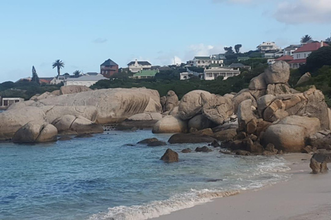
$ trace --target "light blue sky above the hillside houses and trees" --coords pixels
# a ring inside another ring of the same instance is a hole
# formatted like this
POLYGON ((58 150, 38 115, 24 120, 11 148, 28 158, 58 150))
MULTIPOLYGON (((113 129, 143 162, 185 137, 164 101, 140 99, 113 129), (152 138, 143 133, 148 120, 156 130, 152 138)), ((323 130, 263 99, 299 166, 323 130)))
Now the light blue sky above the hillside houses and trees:
POLYGON ((171 65, 263 41, 280 47, 331 32, 331 0, 1 0, 0 83, 99 72, 111 58, 171 65))

